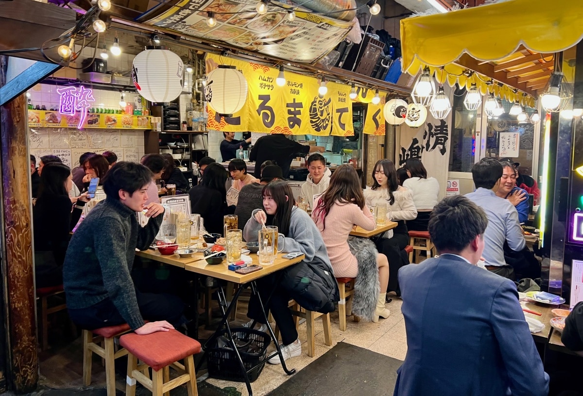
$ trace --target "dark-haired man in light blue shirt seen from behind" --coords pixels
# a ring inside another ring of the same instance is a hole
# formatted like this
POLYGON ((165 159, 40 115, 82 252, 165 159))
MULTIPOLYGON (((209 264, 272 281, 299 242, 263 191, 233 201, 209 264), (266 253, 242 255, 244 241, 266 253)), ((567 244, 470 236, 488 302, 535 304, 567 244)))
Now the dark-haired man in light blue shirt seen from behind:
POLYGON ((466 194, 465 197, 484 209, 488 217, 488 227, 484 233, 486 247, 483 253, 486 269, 514 281, 514 268, 504 260, 504 243, 508 243, 514 251, 522 250, 526 243, 516 208, 508 199, 496 196, 502 174, 502 165, 498 160, 483 158, 472 167, 476 191, 466 194))

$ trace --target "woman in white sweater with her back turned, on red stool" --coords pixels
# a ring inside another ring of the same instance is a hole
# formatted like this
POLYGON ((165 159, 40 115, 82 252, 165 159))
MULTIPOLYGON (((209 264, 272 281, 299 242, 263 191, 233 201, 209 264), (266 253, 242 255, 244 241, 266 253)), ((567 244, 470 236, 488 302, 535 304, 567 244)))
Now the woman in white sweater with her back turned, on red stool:
POLYGON ((429 216, 438 202, 439 183, 435 177, 427 177, 427 170, 417 158, 408 159, 405 169, 409 178, 403 181, 403 187, 411 190, 417 209, 417 217, 407 221, 407 228, 409 231, 427 231, 429 216))

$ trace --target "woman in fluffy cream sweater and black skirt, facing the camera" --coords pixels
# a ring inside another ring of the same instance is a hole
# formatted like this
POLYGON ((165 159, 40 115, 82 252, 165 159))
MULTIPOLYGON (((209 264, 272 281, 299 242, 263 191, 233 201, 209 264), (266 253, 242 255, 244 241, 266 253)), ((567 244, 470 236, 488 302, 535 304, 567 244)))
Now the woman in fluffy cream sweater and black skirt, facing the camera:
POLYGON ((383 234, 377 241, 379 253, 389 260, 388 290, 399 292, 397 272, 403 265, 409 264, 405 247, 409 244, 409 234, 405 220, 417 217, 411 191, 399 185, 395 164, 383 159, 374 165, 373 185, 364 190, 367 206, 387 204, 387 220, 397 222, 397 226, 383 234))

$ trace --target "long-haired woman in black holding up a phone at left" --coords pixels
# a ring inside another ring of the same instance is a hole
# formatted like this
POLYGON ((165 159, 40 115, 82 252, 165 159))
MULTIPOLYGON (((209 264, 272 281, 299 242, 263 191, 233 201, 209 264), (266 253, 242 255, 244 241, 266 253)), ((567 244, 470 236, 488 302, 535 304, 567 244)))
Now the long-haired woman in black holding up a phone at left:
POLYGON ((89 194, 81 194, 72 208, 69 190, 73 184, 71 169, 62 163, 44 166, 33 208, 34 261, 36 287, 63 283, 62 265, 69 243, 69 232, 75 227, 89 202, 89 194))

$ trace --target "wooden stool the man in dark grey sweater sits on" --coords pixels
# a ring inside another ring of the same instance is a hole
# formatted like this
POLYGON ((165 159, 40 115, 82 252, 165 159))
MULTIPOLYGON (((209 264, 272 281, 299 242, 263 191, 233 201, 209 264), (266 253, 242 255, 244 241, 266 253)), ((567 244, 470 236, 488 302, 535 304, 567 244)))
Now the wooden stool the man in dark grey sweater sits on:
POLYGON ((114 338, 130 330, 128 324, 83 330, 83 386, 91 384, 91 363, 93 353, 95 353, 106 363, 107 396, 115 396, 115 359, 127 355, 128 351, 120 349, 115 352, 114 338), (103 347, 97 344, 101 341, 103 341, 103 347))

